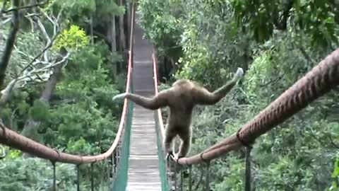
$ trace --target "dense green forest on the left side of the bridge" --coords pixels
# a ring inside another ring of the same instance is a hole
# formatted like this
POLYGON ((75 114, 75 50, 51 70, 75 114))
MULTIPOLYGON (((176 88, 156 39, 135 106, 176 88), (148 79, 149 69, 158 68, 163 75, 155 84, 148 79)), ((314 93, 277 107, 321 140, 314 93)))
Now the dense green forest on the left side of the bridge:
MULTIPOLYGON (((130 6, 124 0, 1 1, 1 57, 17 30, 1 88, 4 125, 61 151, 106 151, 122 110, 112 95, 125 90, 130 6), (11 25, 17 7, 18 25, 11 25)), ((52 189, 52 163, 0 149, 1 157, 6 153, 0 190, 52 189)), ((96 164, 97 176, 105 165, 96 164)), ((83 190, 90 189, 88 169, 81 167, 83 190)), ((76 190, 76 166, 57 164, 57 179, 59 190, 76 190)), ((95 182, 102 189, 109 185, 101 178, 95 182)))

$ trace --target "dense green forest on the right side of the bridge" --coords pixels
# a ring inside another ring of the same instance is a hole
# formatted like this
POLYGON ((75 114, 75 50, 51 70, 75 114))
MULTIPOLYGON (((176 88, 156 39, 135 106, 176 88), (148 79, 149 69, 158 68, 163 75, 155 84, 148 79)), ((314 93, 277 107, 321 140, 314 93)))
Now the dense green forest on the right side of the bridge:
MULTIPOLYGON (((196 111, 191 154, 236 132, 338 48, 339 1, 138 4, 139 24, 162 57, 161 88, 185 78, 212 91, 230 80, 237 67, 245 71, 239 86, 218 105, 196 111)), ((339 190, 338 92, 316 100, 256 141, 255 190, 339 190)), ((200 171, 195 169, 193 177, 198 179, 200 171)), ((242 190, 244 151, 213 161, 210 172, 213 190, 242 190)))

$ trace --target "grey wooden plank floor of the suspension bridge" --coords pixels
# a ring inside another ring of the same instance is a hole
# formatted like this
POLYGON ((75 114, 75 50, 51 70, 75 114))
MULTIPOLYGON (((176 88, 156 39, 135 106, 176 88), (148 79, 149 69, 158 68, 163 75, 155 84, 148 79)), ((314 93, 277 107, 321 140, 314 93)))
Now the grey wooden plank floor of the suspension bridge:
MULTIPOLYGON (((142 39, 143 32, 137 24, 134 33, 133 91, 139 95, 153 96, 152 46, 142 39)), ((133 110, 126 190, 161 190, 154 112, 138 105, 133 110)))

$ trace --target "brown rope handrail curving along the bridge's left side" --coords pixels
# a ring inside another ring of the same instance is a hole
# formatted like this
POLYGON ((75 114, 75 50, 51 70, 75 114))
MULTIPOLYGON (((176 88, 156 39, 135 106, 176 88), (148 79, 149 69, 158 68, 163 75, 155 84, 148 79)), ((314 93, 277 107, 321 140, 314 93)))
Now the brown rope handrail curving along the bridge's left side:
MULTIPOLYGON (((132 16, 131 16, 131 31, 130 35, 131 40, 133 40, 133 30, 134 30, 134 2, 132 3, 132 16)), ((132 62, 133 62, 133 42, 129 47, 129 61, 128 61, 128 69, 127 69, 127 81, 126 81, 126 92, 130 91, 131 85, 131 70, 132 70, 132 62)), ((23 135, 14 132, 11 129, 8 129, 4 125, 0 124, 0 143, 5 144, 7 146, 11 146, 12 148, 19 149, 28 154, 32 154, 39 158, 44 158, 53 162, 61 162, 61 163, 73 163, 73 164, 85 164, 85 163, 93 163, 97 161, 102 161, 114 153, 114 150, 117 149, 117 145, 121 140, 121 135, 124 132, 124 126, 126 122, 126 112, 127 112, 127 99, 124 100, 124 108, 122 110, 121 119, 119 122, 119 129, 117 135, 105 153, 98 154, 95 156, 81 156, 81 155, 73 155, 67 154, 61 151, 57 151, 55 149, 50 148, 49 146, 45 146, 44 144, 40 144, 37 141, 24 137, 23 135)))

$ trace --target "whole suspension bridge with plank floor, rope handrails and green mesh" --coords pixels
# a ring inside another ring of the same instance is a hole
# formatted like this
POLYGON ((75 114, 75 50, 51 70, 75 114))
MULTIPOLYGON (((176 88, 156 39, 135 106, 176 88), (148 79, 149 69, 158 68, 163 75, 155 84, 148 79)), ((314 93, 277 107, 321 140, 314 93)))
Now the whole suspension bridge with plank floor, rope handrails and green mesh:
MULTIPOLYGON (((129 50, 129 66, 127 71, 126 92, 133 91, 144 96, 157 93, 157 57, 155 49, 142 39, 142 31, 134 27, 134 6, 131 10, 131 45, 129 50), (134 30, 135 28, 135 30, 134 30)), ((230 151, 246 148, 246 175, 244 190, 251 188, 250 151, 257 137, 295 115, 316 98, 331 91, 339 84, 339 49, 332 52, 321 63, 314 67, 302 79, 288 88, 279 98, 260 112, 253 120, 239 128, 230 137, 202 151, 195 156, 180 158, 173 163, 191 166, 198 163, 206 164, 205 187, 210 190, 208 167, 210 161, 227 154, 230 151)), ((109 128, 109 127, 107 127, 109 128)), ((165 153, 162 150, 164 125, 160 110, 145 110, 124 100, 121 121, 112 146, 103 154, 96 156, 79 156, 66 154, 32 141, 11 129, 0 125, 0 143, 6 144, 34 156, 52 161, 54 167, 53 190, 56 185, 56 163, 73 163, 76 166, 93 164, 100 161, 109 162, 111 175, 102 172, 101 177, 92 177, 91 190, 96 190, 93 179, 105 179, 112 182, 109 190, 182 190, 182 173, 168 168, 165 153), (171 171, 172 170, 172 171, 171 171), (174 175, 172 175, 174 174, 174 175), (180 180, 177 180, 180 178, 180 180)), ((79 173, 79 170, 78 170, 79 173)), ((91 173, 92 175, 92 173, 91 173)), ((189 190, 192 190, 191 173, 188 179, 189 190)), ((78 190, 80 190, 79 175, 78 190)))

